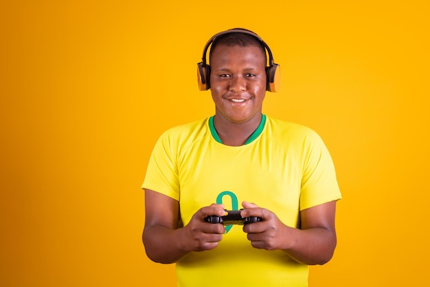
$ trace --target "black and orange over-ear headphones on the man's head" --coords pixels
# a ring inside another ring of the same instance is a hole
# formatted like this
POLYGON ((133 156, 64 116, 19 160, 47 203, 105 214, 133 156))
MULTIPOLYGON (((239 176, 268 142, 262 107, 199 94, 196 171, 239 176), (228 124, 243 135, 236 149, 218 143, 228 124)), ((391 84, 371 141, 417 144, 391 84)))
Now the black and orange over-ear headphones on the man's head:
POLYGON ((197 80, 199 81, 199 89, 201 91, 210 89, 210 65, 206 63, 207 49, 212 43, 214 43, 215 39, 217 39, 219 36, 222 36, 225 34, 231 34, 231 33, 242 33, 242 34, 251 35, 254 38, 256 38, 258 41, 260 41, 260 43, 264 46, 264 48, 267 51, 267 54, 269 54, 269 66, 266 67, 266 75, 267 75, 266 90, 269 92, 278 92, 280 89, 280 80, 281 80, 280 65, 276 64, 273 61, 273 54, 269 46, 266 43, 264 43, 264 41, 260 38, 260 36, 258 36, 256 33, 252 31, 242 29, 242 28, 234 28, 223 32, 219 32, 218 34, 215 34, 214 36, 212 36, 212 38, 209 41, 207 41, 205 45, 205 49, 203 49, 202 61, 200 63, 197 63, 197 80))

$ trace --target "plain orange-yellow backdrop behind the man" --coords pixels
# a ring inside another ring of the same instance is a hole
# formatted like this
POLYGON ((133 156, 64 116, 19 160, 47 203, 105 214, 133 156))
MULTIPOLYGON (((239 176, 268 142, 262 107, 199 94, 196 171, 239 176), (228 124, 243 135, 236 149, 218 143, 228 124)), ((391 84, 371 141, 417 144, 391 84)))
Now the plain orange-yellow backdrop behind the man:
POLYGON ((282 67, 264 112, 315 129, 337 167, 339 244, 310 286, 428 286, 429 13, 426 0, 3 1, 0 286, 175 286, 144 253, 140 184, 162 131, 214 113, 196 63, 234 27, 282 67))

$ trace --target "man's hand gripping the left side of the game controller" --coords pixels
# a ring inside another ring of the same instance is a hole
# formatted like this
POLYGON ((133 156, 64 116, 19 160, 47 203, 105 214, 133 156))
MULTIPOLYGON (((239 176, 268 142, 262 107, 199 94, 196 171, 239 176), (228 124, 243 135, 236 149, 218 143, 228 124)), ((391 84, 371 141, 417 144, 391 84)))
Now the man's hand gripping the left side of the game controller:
POLYGON ((205 251, 218 246, 223 239, 225 227, 223 224, 211 224, 205 221, 209 215, 224 215, 223 204, 205 206, 192 216, 190 222, 183 227, 184 246, 186 251, 205 251))

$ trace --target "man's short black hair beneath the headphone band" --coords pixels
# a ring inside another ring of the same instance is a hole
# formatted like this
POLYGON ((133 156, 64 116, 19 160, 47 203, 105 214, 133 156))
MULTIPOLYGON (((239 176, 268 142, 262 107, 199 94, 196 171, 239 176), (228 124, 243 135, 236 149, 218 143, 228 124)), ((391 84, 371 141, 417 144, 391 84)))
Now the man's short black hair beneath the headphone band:
POLYGON ((262 53, 264 54, 264 61, 267 61, 266 56, 266 47, 263 45, 263 43, 256 38, 255 36, 252 36, 251 34, 245 34, 241 32, 231 32, 227 34, 223 34, 221 36, 218 36, 213 42, 210 47, 209 52, 209 62, 210 58, 212 56, 212 51, 215 50, 215 47, 217 45, 226 45, 229 47, 238 45, 240 47, 247 47, 247 46, 257 46, 261 48, 262 53))

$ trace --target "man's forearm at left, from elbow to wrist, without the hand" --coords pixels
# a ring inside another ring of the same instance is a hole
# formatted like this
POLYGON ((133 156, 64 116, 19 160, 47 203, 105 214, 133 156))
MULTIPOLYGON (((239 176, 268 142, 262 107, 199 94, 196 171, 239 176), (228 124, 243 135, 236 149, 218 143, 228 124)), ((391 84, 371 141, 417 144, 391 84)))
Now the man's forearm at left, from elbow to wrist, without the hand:
POLYGON ((146 255, 158 263, 177 262, 188 253, 181 244, 181 229, 171 229, 166 226, 146 227, 142 235, 146 255))

